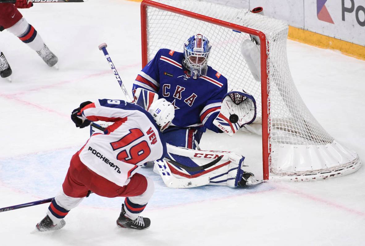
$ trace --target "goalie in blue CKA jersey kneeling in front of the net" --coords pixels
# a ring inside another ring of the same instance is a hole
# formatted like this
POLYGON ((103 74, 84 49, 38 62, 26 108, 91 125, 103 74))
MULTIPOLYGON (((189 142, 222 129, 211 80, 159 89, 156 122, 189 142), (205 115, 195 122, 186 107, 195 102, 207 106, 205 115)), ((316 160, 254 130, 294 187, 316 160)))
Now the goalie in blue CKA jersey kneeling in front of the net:
MULTIPOLYGON (((199 150, 201 136, 207 129, 232 136, 244 124, 253 122, 256 116, 253 96, 242 89, 227 93, 227 79, 208 66, 211 48, 207 37, 196 34, 184 43, 184 52, 160 49, 135 79, 132 88, 134 102, 148 110, 154 100, 165 98, 175 108, 175 118, 163 134, 170 146, 167 158, 171 161, 165 163, 170 169, 168 173, 191 179, 203 176, 204 172, 204 175, 210 175, 209 184, 236 187, 245 173, 241 168, 243 159, 239 162, 238 158, 234 174, 226 173, 218 179, 212 175, 227 172, 229 167, 232 169, 230 161, 222 166, 224 170, 220 167, 221 171, 217 172, 215 167, 224 163, 219 161, 212 166, 205 165, 212 161, 209 153, 202 153, 201 156, 208 157, 199 160, 187 154, 179 155, 183 148, 199 150), (182 165, 176 167, 172 162, 182 165), (209 167, 197 170, 204 165, 209 167)), ((161 176, 166 178, 165 174, 161 173, 161 176)), ((246 181, 249 176, 253 175, 246 175, 246 181)))

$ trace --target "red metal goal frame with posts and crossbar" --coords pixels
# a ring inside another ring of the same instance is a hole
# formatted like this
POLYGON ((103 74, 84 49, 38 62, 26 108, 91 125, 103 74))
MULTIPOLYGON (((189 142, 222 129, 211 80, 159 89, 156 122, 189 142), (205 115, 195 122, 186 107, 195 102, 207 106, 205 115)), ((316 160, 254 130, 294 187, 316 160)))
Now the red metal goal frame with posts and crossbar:
MULTIPOLYGON (((215 25, 220 25, 222 27, 230 28, 236 31, 245 32, 250 35, 255 35, 260 38, 260 53, 261 53, 261 107, 262 107, 262 172, 263 172, 263 179, 269 179, 269 156, 271 152, 271 144, 269 139, 269 128, 270 126, 270 102, 268 101, 268 91, 269 83, 269 71, 268 67, 268 54, 267 54, 267 47, 268 41, 266 40, 265 33, 244 27, 242 25, 237 25, 233 23, 229 23, 227 21, 215 19, 212 17, 200 15, 198 13, 193 13, 191 11, 186 11, 184 9, 168 6, 165 4, 157 3, 151 0, 143 0, 141 3, 141 44, 142 44, 142 67, 147 65, 147 7, 154 7, 158 9, 162 9, 165 11, 177 13, 179 15, 184 15, 187 17, 191 17, 197 20, 206 21, 208 23, 212 23, 215 25), (266 45, 262 45, 266 44, 266 45)), ((183 42, 184 40, 181 40, 183 42)), ((164 48, 164 47, 161 47, 164 48)))

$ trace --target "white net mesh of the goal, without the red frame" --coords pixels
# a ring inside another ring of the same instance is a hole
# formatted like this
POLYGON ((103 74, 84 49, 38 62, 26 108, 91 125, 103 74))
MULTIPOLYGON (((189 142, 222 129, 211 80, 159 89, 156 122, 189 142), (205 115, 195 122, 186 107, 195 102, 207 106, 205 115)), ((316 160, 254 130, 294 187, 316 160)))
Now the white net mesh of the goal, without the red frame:
MULTIPOLYGON (((314 146, 328 148, 328 146, 336 145, 335 149, 343 147, 334 143, 334 139, 312 116, 297 92, 287 61, 288 25, 284 21, 254 14, 247 9, 230 8, 197 0, 156 0, 155 2, 265 33, 268 41, 266 45, 269 94, 267 103, 270 113, 269 119, 264 120, 267 120, 269 124, 267 142, 271 147, 270 172, 278 175, 303 175, 323 172, 323 170, 326 172, 358 162, 357 154, 348 150, 344 150, 345 154, 335 158, 334 163, 320 160, 327 156, 327 153, 319 154, 315 160, 308 157, 313 155, 311 148, 314 146), (299 152, 299 155, 303 155, 304 158, 301 160, 299 158, 299 163, 293 163, 293 159, 298 159, 294 156, 298 154, 295 150, 298 146, 306 146, 309 152, 301 150, 304 153, 299 152), (308 158, 312 163, 308 163, 308 158)), ((228 79, 228 91, 242 88, 254 96, 258 108, 255 123, 261 123, 261 82, 253 78, 240 48, 243 40, 250 39, 247 33, 197 20, 193 15, 184 16, 156 7, 147 7, 146 15, 148 61, 160 48, 182 52, 183 43, 188 37, 195 33, 202 33, 212 44, 208 64, 228 79)))

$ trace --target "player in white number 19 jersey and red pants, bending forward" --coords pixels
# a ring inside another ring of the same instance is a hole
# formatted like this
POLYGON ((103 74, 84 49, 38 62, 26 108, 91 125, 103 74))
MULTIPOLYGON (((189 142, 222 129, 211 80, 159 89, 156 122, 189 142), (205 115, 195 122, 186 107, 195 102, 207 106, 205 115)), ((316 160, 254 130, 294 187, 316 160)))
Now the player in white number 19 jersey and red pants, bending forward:
POLYGON ((122 100, 99 99, 81 103, 71 115, 76 127, 93 121, 114 122, 104 134, 93 134, 72 156, 62 190, 52 200, 38 231, 58 230, 64 217, 90 192, 103 197, 125 197, 116 223, 120 227, 147 229, 150 219, 139 216, 154 191, 153 180, 137 170, 166 155, 161 132, 174 118, 174 107, 165 99, 153 102, 147 112, 122 100))

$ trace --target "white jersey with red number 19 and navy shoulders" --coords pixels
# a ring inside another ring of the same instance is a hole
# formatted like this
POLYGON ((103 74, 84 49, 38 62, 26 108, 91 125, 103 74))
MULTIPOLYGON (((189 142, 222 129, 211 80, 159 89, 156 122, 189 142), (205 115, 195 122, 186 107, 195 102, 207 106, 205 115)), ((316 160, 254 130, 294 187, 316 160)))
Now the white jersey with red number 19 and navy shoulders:
POLYGON ((155 120, 138 105, 99 99, 82 108, 79 115, 114 122, 104 134, 93 134, 79 156, 85 166, 119 186, 127 185, 142 164, 166 155, 166 142, 155 120))

